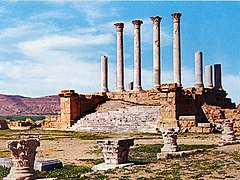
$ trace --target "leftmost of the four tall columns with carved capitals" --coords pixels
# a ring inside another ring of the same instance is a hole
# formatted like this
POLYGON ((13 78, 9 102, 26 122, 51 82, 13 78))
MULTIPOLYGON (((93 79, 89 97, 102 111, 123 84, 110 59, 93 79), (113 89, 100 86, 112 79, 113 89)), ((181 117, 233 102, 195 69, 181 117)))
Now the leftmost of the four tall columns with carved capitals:
POLYGON ((124 91, 124 73, 123 73, 123 23, 114 24, 117 30, 117 88, 116 91, 124 91))

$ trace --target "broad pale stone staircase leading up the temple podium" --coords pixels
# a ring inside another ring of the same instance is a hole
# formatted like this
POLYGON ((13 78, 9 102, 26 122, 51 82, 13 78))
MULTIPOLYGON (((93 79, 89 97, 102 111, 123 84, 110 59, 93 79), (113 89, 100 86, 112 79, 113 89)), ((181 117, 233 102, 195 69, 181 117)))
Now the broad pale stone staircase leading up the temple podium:
POLYGON ((156 132, 160 106, 128 106, 114 111, 95 112, 78 120, 69 131, 156 132))

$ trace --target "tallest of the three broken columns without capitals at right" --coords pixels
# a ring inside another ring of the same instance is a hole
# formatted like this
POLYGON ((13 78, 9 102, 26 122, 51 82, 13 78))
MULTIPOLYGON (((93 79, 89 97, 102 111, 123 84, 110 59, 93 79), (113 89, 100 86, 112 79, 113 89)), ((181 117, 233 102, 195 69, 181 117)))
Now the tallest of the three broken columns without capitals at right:
POLYGON ((195 84, 196 88, 203 87, 203 75, 202 75, 202 52, 197 51, 195 53, 195 84))

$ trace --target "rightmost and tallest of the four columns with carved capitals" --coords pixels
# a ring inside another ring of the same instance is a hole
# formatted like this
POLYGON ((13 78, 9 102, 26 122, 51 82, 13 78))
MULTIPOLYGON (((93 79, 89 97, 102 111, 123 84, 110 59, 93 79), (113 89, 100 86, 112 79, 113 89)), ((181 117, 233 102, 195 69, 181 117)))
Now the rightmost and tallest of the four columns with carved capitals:
POLYGON ((173 73, 174 83, 182 87, 181 82, 181 47, 180 47, 180 17, 181 13, 171 14, 173 18, 173 73))

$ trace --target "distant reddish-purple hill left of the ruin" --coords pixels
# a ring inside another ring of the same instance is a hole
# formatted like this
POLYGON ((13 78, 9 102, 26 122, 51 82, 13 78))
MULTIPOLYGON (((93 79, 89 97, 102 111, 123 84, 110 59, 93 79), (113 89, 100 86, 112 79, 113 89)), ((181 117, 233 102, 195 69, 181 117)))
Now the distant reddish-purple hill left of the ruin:
POLYGON ((29 98, 0 94, 0 116, 30 116, 60 112, 58 95, 29 98))

